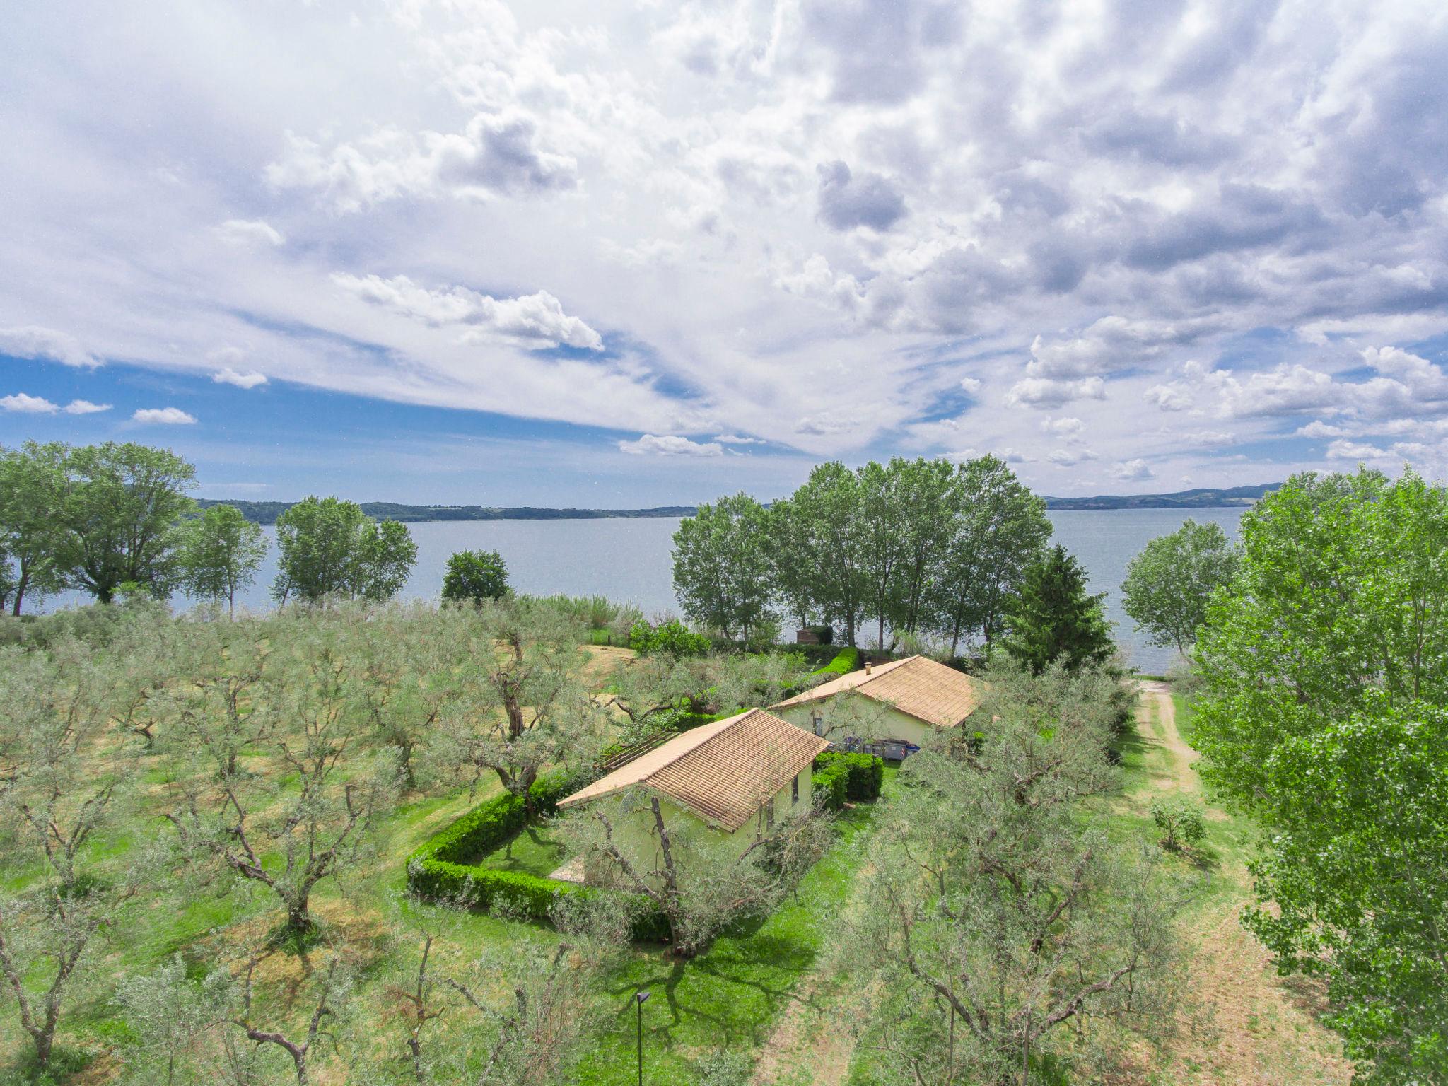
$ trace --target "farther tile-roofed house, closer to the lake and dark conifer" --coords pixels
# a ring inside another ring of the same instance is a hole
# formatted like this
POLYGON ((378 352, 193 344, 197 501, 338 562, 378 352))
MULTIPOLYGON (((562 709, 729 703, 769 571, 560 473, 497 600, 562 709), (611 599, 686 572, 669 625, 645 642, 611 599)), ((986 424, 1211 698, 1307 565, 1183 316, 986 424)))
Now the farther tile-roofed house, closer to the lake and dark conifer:
POLYGON ((980 683, 927 656, 906 656, 820 683, 770 712, 828 736, 846 750, 904 759, 937 728, 963 724, 980 707, 980 683))

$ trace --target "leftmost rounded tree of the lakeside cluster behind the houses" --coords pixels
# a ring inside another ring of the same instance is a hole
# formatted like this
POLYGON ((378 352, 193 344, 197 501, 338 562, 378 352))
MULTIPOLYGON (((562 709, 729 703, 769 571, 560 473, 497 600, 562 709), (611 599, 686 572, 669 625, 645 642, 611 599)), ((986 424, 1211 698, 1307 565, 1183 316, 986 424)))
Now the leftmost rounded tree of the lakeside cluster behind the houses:
POLYGON ((699 505, 673 533, 673 592, 696 624, 736 634, 772 617, 769 517, 747 494, 699 505))

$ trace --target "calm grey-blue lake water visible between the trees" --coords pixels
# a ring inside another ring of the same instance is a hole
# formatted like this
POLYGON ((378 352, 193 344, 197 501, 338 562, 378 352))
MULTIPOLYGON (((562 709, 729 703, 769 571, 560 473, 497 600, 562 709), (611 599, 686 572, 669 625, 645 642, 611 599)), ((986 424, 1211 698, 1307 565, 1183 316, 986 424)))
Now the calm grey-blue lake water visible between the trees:
MULTIPOLYGON (((1171 653, 1145 643, 1121 611, 1121 579, 1127 562, 1156 536, 1176 531, 1187 515, 1221 524, 1237 539, 1242 510, 1069 510, 1048 513, 1054 542, 1066 544, 1090 575, 1093 592, 1106 592, 1106 615, 1131 660, 1147 672, 1161 672, 1171 653)), ((518 592, 605 595, 628 601, 654 615, 676 613, 672 586, 673 517, 637 520, 471 520, 408 524, 417 542, 417 566, 404 597, 437 597, 447 559, 459 550, 497 550, 508 563, 508 582, 518 592)), ((237 599, 249 610, 271 604, 268 586, 277 575, 275 529, 264 529, 271 543, 256 584, 237 599)), ((45 610, 84 602, 67 592, 45 610)), ((177 607, 187 605, 177 598, 177 607)))

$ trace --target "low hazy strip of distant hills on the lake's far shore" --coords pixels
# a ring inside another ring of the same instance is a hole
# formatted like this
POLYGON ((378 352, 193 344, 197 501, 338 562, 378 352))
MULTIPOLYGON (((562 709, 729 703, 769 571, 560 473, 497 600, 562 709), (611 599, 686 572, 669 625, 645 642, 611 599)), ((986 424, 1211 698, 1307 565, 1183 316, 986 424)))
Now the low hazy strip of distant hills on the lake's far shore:
MULTIPOLYGON (((1090 498, 1045 498, 1048 511, 1066 510, 1208 510, 1253 505, 1277 489, 1280 482, 1229 489, 1196 488, 1173 494, 1099 494, 1090 498)), ((235 505, 255 524, 275 524, 291 508, 291 501, 227 501, 201 498, 209 505, 235 505)), ((643 510, 578 510, 534 505, 405 505, 395 501, 363 501, 362 510, 374 520, 400 520, 410 524, 462 520, 637 520, 644 517, 692 517, 694 505, 653 505, 643 510)))

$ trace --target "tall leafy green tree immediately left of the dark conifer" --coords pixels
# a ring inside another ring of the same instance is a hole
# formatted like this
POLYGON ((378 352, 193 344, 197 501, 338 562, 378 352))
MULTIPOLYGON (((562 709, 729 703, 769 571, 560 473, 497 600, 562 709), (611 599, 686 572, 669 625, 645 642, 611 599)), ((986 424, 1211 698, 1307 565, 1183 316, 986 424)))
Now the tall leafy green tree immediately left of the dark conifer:
POLYGON ((988 646, 1001 634, 1006 601, 1051 537, 1045 501, 995 456, 960 465, 957 501, 931 598, 934 624, 950 637, 951 653, 972 633, 988 646))

